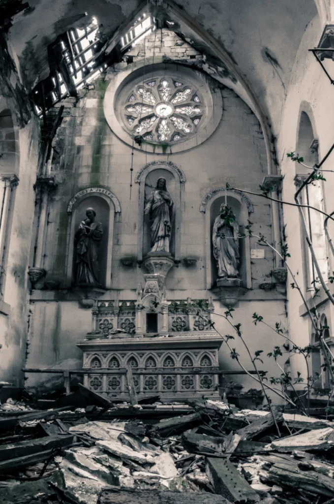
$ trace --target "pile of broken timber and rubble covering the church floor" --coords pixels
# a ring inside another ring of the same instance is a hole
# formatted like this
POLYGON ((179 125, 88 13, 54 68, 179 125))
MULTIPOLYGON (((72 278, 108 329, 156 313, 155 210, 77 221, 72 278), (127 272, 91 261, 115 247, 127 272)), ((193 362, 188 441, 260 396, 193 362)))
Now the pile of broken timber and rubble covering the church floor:
POLYGON ((1 504, 334 502, 334 422, 205 398, 75 394, 85 407, 0 407, 1 504))

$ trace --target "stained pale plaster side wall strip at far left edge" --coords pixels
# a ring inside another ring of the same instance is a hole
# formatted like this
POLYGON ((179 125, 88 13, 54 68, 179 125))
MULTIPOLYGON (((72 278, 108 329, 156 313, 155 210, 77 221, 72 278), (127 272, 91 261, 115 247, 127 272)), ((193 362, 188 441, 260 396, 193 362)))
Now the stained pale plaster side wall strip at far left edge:
MULTIPOLYGON (((26 340, 29 328, 28 266, 33 226, 38 158, 38 123, 31 119, 28 125, 17 130, 20 164, 15 170, 20 181, 13 190, 9 210, 9 236, 7 237, 3 298, 0 301, 0 376, 14 386, 23 386, 26 340)), ((8 166, 6 166, 8 173, 8 166)))

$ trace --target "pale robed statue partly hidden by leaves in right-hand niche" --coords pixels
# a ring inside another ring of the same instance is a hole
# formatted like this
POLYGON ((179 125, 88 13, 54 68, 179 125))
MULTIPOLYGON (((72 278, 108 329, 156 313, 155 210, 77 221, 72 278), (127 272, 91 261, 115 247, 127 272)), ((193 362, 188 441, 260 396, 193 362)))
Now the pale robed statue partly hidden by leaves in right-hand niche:
POLYGON ((239 224, 226 203, 221 205, 212 232, 214 256, 220 278, 239 277, 239 224))

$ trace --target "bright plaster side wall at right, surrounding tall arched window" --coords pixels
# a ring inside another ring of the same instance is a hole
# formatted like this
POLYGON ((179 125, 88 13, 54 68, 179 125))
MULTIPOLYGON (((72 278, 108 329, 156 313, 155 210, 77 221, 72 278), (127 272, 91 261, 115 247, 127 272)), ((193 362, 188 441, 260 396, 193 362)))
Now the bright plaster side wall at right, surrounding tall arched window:
MULTIPOLYGON (((292 70, 290 86, 287 90, 287 98, 283 110, 282 129, 278 138, 278 159, 280 161, 281 172, 284 175, 283 181, 283 201, 293 202, 296 186, 294 185, 294 176, 296 173, 305 171, 300 169, 297 163, 293 163, 287 153, 295 151, 298 141, 298 129, 301 112, 306 112, 312 123, 314 138, 319 140, 319 160, 326 155, 327 151, 334 142, 333 122, 334 122, 334 101, 333 89, 328 78, 325 76, 320 65, 313 54, 308 51, 309 48, 317 47, 323 30, 322 24, 315 17, 308 25, 305 34, 301 40, 300 47, 296 54, 295 65, 292 70)), ((334 71, 334 62, 324 61, 326 68, 334 71)), ((331 153, 327 161, 322 166, 323 169, 332 169, 334 154, 331 153)), ((309 171, 310 170, 306 170, 309 171)), ((333 211, 332 207, 332 188, 334 184, 333 173, 323 173, 326 181, 323 183, 324 209, 328 213, 333 211)), ((300 218, 297 208, 283 206, 285 232, 289 245, 291 258, 289 264, 294 272, 296 279, 301 286, 304 294, 311 298, 311 293, 306 292, 305 269, 306 264, 303 261, 304 239, 301 235, 300 218)), ((329 224, 330 235, 333 235, 334 226, 329 224)), ((327 250, 329 253, 329 250, 327 250)), ((333 258, 329 257, 329 272, 333 269, 333 258)), ((288 328, 289 337, 298 345, 306 346, 310 342, 311 328, 308 318, 301 317, 305 315, 305 309, 301 306, 302 300, 297 289, 291 287, 293 279, 288 276, 288 328)), ((331 284, 329 289, 332 292, 331 284)), ((319 296, 315 298, 315 304, 321 303, 320 312, 326 312, 327 321, 330 325, 334 322, 333 307, 328 301, 324 302, 325 296, 322 289, 319 296)), ((298 362, 295 359, 294 372, 300 370, 303 375, 306 374, 303 360, 298 362)))

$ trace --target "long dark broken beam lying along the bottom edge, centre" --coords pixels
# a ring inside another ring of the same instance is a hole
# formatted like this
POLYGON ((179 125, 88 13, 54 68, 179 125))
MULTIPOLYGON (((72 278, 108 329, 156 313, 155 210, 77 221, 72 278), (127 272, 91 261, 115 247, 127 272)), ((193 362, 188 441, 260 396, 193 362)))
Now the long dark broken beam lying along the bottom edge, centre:
POLYGON ((100 504, 230 504, 222 495, 208 492, 170 492, 167 490, 137 490, 106 488, 102 490, 100 504))

